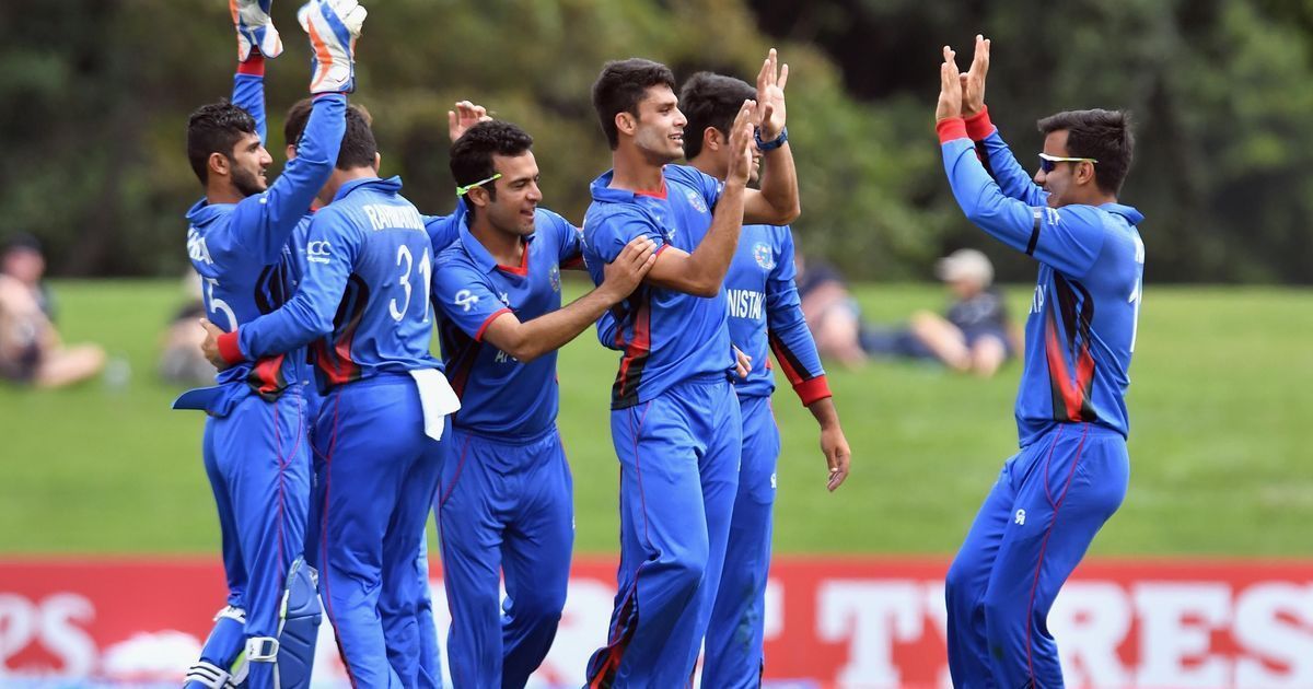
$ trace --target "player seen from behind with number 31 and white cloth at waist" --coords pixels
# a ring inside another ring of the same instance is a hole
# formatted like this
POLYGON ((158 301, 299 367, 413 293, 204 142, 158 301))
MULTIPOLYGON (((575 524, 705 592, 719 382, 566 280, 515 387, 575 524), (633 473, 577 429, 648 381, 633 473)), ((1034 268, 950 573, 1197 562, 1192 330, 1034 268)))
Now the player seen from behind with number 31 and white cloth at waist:
POLYGON ((399 178, 378 177, 378 163, 373 131, 348 110, 310 223, 306 280, 282 308, 214 348, 239 362, 314 341, 324 391, 314 430, 323 462, 318 551, 343 661, 356 685, 436 686, 419 661, 416 562, 437 486, 437 440, 458 402, 428 350, 425 220, 399 194, 399 178))

